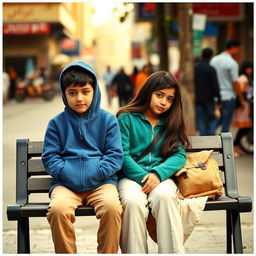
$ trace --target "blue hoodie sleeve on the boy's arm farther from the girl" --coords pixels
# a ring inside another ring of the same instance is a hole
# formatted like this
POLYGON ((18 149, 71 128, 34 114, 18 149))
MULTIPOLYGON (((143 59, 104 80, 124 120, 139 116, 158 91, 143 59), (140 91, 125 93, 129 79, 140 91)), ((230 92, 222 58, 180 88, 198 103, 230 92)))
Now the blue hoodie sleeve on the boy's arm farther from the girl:
POLYGON ((59 179, 60 170, 64 167, 64 160, 60 156, 61 144, 57 134, 57 128, 53 120, 50 120, 46 129, 42 162, 46 171, 55 179, 59 179))

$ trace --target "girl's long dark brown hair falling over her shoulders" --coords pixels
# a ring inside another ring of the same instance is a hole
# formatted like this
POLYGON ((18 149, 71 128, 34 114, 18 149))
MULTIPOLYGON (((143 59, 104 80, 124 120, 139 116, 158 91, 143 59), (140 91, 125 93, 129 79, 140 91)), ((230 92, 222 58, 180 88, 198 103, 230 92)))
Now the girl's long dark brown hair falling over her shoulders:
POLYGON ((127 105, 121 107, 117 113, 117 116, 121 113, 145 113, 149 107, 152 93, 167 88, 175 89, 175 98, 170 109, 163 114, 166 138, 162 144, 161 153, 164 157, 177 151, 180 145, 185 148, 190 146, 183 117, 180 87, 169 72, 157 71, 151 74, 141 87, 138 95, 127 105))

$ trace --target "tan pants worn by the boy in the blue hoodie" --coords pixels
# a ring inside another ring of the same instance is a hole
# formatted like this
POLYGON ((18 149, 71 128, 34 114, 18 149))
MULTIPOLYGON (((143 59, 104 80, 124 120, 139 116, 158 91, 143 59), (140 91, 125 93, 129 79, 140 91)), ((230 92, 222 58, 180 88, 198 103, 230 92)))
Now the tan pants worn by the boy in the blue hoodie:
POLYGON ((105 184, 85 193, 74 193, 57 186, 53 189, 47 219, 51 226, 56 253, 77 253, 75 230, 75 209, 86 200, 94 207, 98 230, 98 253, 117 253, 121 232, 122 206, 116 186, 105 184))

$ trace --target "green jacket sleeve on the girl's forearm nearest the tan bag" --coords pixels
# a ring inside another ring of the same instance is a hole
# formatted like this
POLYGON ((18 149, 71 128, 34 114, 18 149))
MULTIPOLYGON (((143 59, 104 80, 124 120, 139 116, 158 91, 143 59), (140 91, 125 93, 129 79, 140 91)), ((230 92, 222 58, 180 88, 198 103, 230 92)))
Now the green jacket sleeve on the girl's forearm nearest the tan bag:
POLYGON ((186 152, 183 148, 168 157, 163 163, 155 166, 153 170, 158 174, 160 181, 170 178, 175 172, 184 167, 186 163, 186 152))

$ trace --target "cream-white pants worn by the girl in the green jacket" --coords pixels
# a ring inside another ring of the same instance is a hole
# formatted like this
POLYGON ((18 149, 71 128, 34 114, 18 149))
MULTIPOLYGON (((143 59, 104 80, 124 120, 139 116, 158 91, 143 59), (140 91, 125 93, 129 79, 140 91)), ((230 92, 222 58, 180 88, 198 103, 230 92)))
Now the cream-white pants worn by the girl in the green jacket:
POLYGON ((118 190, 124 208, 122 253, 148 253, 146 221, 149 207, 156 220, 158 253, 185 253, 180 200, 173 180, 167 179, 145 194, 139 184, 124 178, 118 190))

